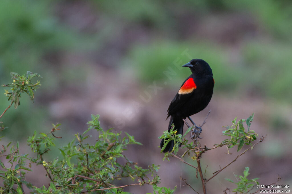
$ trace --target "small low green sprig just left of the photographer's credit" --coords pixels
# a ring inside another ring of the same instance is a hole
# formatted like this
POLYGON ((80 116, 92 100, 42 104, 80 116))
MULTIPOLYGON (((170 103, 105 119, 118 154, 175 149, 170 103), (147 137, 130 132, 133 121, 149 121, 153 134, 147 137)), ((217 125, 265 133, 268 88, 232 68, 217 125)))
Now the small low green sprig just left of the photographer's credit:
POLYGON ((248 179, 248 171, 249 171, 249 167, 245 167, 244 171, 243 171, 243 176, 241 175, 235 175, 237 177, 237 182, 232 181, 231 179, 226 179, 227 181, 230 181, 234 184, 237 185, 237 188, 233 189, 233 192, 239 192, 239 193, 247 193, 249 192, 253 186, 258 185, 258 180, 259 178, 255 178, 255 179, 248 179))

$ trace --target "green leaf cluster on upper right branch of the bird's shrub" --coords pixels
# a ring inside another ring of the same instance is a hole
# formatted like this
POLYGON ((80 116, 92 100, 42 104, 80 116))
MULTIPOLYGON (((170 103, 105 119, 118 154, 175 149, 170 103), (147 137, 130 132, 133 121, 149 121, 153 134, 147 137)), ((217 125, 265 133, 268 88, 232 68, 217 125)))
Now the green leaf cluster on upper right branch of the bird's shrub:
POLYGON ((237 117, 233 119, 232 126, 224 126, 227 130, 222 131, 223 135, 229 136, 230 139, 224 140, 221 144, 227 145, 228 148, 237 146, 237 151, 240 151, 244 144, 250 145, 251 149, 253 147, 253 141, 256 140, 258 134, 254 130, 249 130, 251 121, 253 121, 254 113, 248 117, 248 119, 239 119, 237 117), (243 122, 246 122, 248 130, 245 131, 243 122))

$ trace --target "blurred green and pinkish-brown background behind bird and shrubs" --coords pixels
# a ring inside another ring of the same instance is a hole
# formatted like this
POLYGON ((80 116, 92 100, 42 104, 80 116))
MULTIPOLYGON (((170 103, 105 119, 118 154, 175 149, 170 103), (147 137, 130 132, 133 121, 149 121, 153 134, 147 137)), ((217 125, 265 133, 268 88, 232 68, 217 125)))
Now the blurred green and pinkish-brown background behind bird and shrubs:
MULTIPOLYGON (((143 143, 129 148, 133 161, 161 164, 161 185, 178 185, 178 193, 192 193, 179 186, 179 176, 196 185, 194 174, 174 159, 163 162, 157 147, 157 137, 167 128, 167 107, 190 75, 175 65, 190 61, 182 54, 187 50, 192 58, 210 64, 215 79, 203 143, 218 143, 224 139, 221 126, 252 112, 253 130, 268 135, 214 179, 209 191, 222 193, 230 186, 224 178, 235 179, 233 173, 242 174, 245 166, 261 184, 276 181, 278 174, 283 184, 291 183, 291 173, 284 170, 291 168, 292 159, 291 17, 288 0, 1 1, 0 83, 12 82, 10 72, 29 70, 43 76, 36 103, 22 95, 20 107, 1 118, 9 127, 3 132, 5 141, 20 140, 29 151, 28 135, 50 131, 51 123, 60 122, 58 136, 63 139, 57 144, 62 145, 86 129, 90 114, 100 114, 104 128, 127 131, 143 143), (175 71, 171 80, 164 74, 169 68, 175 71), (153 82, 162 87, 157 93, 149 88, 153 82), (147 92, 149 102, 141 100, 147 92), (134 102, 140 105, 135 108, 134 102), (168 174, 170 168, 173 174, 168 174)), ((4 111, 9 103, 4 95, 0 100, 4 111)), ((195 121, 202 122, 208 110, 193 116, 195 121)), ((236 155, 235 150, 232 156, 224 152, 206 156, 208 173, 218 169, 218 160, 222 166, 236 155)), ((48 180, 35 181, 44 185, 48 180)), ((151 192, 147 186, 131 189, 126 191, 151 192)))

